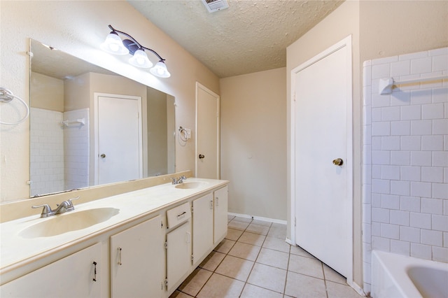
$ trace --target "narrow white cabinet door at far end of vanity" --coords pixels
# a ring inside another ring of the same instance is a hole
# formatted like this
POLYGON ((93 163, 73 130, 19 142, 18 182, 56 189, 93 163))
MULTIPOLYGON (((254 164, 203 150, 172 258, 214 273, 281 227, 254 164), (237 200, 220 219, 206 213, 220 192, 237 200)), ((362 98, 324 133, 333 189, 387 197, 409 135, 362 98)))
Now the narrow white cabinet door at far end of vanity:
POLYGON ((214 244, 227 235, 228 187, 225 186, 214 192, 214 244))

